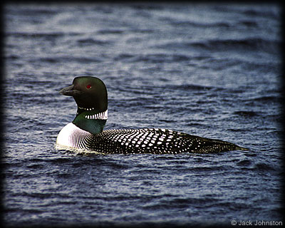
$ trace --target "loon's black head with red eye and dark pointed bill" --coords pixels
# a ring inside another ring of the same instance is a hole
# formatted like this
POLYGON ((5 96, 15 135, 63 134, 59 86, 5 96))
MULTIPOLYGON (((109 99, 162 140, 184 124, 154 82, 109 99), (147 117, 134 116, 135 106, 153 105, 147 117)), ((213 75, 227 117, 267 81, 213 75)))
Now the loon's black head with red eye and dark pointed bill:
POLYGON ((83 76, 76 77, 73 85, 59 91, 63 95, 71 95, 80 108, 93 108, 101 113, 108 108, 107 89, 99 78, 83 76))

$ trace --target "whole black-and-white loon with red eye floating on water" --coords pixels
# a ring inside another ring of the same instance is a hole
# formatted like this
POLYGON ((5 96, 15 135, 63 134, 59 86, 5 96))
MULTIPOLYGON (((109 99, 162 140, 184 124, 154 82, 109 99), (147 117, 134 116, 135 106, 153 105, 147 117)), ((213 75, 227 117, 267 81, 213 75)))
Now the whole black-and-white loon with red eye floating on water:
POLYGON ((77 113, 76 118, 58 134, 57 148, 122 154, 248 150, 231 142, 202 138, 167 129, 103 130, 108 119, 108 95, 105 84, 99 78, 76 77, 71 86, 61 89, 59 93, 74 98, 77 113))

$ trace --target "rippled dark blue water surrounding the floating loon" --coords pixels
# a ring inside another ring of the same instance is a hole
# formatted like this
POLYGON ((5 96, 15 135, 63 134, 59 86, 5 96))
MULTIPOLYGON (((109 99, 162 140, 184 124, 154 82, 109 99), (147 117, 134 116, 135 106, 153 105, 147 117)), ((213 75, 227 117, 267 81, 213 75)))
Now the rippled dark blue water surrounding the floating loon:
POLYGON ((282 221, 281 9, 251 4, 7 4, 9 226, 282 221), (111 128, 168 128, 252 151, 56 150, 76 76, 108 88, 111 128))

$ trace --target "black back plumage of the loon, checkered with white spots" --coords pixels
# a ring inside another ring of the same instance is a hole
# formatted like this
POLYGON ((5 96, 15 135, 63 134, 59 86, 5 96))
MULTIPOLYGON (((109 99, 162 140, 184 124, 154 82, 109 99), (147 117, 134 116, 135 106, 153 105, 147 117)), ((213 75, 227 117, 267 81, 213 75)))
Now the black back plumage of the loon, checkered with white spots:
POLYGON ((105 153, 207 153, 242 148, 222 140, 157 128, 103 130, 102 133, 93 135, 89 142, 88 150, 105 153))

